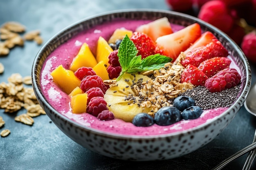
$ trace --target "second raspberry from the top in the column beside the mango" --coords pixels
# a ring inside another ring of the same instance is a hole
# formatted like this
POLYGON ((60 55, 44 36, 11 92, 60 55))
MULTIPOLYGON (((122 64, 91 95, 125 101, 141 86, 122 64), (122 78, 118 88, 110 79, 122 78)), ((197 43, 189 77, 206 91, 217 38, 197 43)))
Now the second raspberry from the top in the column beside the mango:
POLYGON ((82 89, 82 91, 86 92, 92 87, 99 87, 104 94, 108 89, 103 83, 101 77, 99 77, 98 75, 88 75, 84 77, 80 84, 80 88, 82 89))

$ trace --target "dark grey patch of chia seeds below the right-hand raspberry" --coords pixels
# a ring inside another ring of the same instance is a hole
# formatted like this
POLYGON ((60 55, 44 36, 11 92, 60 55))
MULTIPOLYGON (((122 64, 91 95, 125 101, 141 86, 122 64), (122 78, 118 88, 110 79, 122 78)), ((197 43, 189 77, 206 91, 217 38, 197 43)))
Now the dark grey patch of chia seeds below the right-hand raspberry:
POLYGON ((211 93, 204 86, 196 86, 195 88, 185 91, 181 95, 192 97, 195 100, 195 105, 201 107, 203 110, 229 107, 236 101, 240 91, 240 84, 223 90, 221 92, 211 93))

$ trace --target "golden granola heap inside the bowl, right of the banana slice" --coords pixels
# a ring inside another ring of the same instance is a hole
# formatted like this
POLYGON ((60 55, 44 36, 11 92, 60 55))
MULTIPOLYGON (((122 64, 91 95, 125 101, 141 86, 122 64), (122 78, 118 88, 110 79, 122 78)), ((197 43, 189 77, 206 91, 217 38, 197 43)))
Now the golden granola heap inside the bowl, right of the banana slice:
POLYGON ((180 63, 166 63, 164 68, 143 73, 143 75, 153 77, 139 91, 148 97, 141 104, 141 107, 152 108, 148 114, 153 116, 159 108, 171 106, 172 99, 178 97, 180 93, 194 88, 191 83, 180 83, 183 70, 184 66, 180 63))

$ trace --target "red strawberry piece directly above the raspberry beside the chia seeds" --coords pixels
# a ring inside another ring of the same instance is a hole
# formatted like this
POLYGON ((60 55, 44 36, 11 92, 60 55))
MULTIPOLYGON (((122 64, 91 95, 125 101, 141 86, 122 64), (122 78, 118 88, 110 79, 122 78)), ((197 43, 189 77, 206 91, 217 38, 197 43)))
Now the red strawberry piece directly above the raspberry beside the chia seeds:
POLYGON ((213 57, 203 61, 198 68, 210 78, 219 71, 229 68, 230 63, 231 60, 227 57, 213 57))

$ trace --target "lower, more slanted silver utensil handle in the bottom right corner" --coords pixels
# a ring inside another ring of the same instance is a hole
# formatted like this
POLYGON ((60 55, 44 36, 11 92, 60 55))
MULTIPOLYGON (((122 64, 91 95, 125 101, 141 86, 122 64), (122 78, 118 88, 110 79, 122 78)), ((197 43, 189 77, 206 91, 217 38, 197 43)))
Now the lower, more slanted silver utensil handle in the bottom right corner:
POLYGON ((216 167, 214 167, 212 170, 220 170, 221 168, 223 168, 224 166, 226 166, 229 162, 233 161, 234 159, 245 155, 247 152, 253 150, 256 148, 256 142, 248 145, 247 147, 243 148, 242 150, 239 150, 238 152, 236 152, 234 155, 232 155, 231 157, 227 158, 226 160, 222 161, 220 164, 218 164, 216 167))

